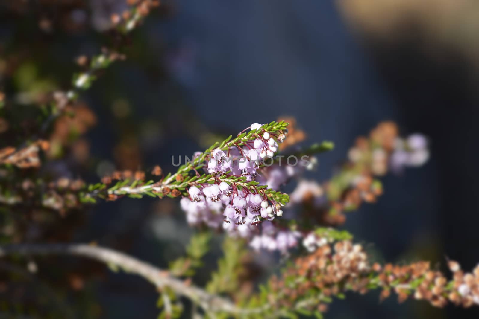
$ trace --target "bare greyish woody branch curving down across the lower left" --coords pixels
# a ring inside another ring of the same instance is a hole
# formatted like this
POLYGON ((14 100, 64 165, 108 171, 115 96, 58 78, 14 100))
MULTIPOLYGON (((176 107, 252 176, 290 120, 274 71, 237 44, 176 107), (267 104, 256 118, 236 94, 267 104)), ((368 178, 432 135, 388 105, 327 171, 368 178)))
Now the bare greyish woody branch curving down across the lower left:
POLYGON ((151 264, 108 248, 87 244, 17 244, 0 247, 0 256, 9 254, 66 254, 87 257, 123 269, 127 273, 140 275, 158 288, 168 287, 178 296, 192 300, 207 312, 243 312, 228 299, 209 294, 199 287, 188 285, 172 277, 166 271, 151 264))

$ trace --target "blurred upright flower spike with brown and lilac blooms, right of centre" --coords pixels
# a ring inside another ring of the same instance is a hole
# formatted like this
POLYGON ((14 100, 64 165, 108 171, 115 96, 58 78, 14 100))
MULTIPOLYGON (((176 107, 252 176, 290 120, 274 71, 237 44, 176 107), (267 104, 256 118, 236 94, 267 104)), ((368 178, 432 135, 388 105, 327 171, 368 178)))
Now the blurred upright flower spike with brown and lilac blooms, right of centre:
POLYGON ((305 222, 321 225, 344 223, 344 213, 357 210, 364 202, 373 203, 382 194, 378 177, 400 173, 405 167, 423 165, 429 157, 427 139, 421 134, 399 136, 393 122, 381 122, 369 137, 358 137, 348 152, 348 160, 322 185, 301 181, 291 201, 301 204, 305 222))

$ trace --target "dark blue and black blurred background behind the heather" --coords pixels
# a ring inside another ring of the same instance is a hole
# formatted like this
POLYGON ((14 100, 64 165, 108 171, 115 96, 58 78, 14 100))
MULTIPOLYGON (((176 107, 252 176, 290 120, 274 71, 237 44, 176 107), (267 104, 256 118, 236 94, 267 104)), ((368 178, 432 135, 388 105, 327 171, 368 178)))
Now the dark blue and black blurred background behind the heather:
MULTIPOLYGON (((27 106, 68 88, 75 59, 108 44, 110 17, 125 7, 124 0, 0 1, 0 89, 27 106)), ((444 269, 450 257, 471 269, 479 262, 478 33, 476 0, 164 1, 132 34, 127 59, 81 97, 76 131, 56 127, 50 169, 89 181, 115 168, 159 164, 168 172, 171 155, 289 115, 307 133, 305 144, 335 142, 307 176, 322 181, 356 136, 392 120, 402 133, 430 139, 431 160, 387 176, 384 195, 349 214, 343 228, 374 243, 384 261, 429 259, 444 269), (65 154, 68 161, 56 163, 65 154)), ((66 219, 73 231, 68 223, 59 231, 72 241, 163 267, 182 255, 192 232, 174 200, 123 199, 66 219)), ((219 254, 208 254, 197 283, 208 280, 219 254)), ((251 258, 261 264, 274 256, 251 258)), ((76 259, 71 265, 80 267, 76 259)), ((63 289, 81 318, 156 318, 147 282, 87 265, 100 275, 70 274, 75 292, 63 289)), ((371 293, 334 302, 326 318, 478 315, 395 298, 379 303, 371 293)))

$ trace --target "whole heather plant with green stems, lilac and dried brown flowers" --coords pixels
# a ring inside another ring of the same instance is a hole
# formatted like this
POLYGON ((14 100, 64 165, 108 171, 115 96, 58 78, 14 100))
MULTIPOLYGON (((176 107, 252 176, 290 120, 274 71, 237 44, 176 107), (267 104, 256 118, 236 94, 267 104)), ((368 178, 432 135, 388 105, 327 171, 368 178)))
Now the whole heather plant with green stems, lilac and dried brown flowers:
MULTIPOLYGON (((114 46, 91 58, 81 56, 82 71, 73 76, 71 88, 52 92, 34 116, 19 118, 15 101, 0 95, 0 268, 9 273, 0 289, 16 285, 18 277, 39 287, 2 301, 0 309, 6 316, 77 317, 55 291, 35 279, 39 255, 65 254, 148 280, 158 290, 158 318, 190 312, 193 318, 322 318, 335 299, 370 290, 380 290, 381 299, 394 292, 399 302, 422 299, 434 307, 479 305, 479 266, 466 272, 457 262, 445 260, 451 271, 447 275, 427 261, 380 264, 342 228, 348 213, 381 196, 381 176, 421 166, 429 158, 427 139, 417 133, 401 137, 393 122, 379 123, 368 136, 359 137, 347 160, 323 183, 307 179, 308 171, 316 168, 319 154, 333 149, 333 143, 299 147, 305 132, 294 118, 286 117, 245 124, 243 131, 190 157, 172 155, 172 165, 177 166, 173 172, 158 165, 146 171, 118 170, 95 183, 80 176, 52 177, 45 167, 62 159, 64 152, 58 150, 68 145, 68 129, 74 127, 81 135, 96 121, 81 101, 81 92, 113 62, 125 59, 121 46, 128 34, 159 5, 152 0, 127 4, 129 9, 111 17, 114 46), (295 186, 291 192, 284 191, 288 185, 295 186), (68 220, 78 227, 76 218, 91 206, 125 197, 172 201, 194 228, 184 256, 171 260, 168 269, 94 242, 35 235, 55 228, 68 232, 68 220), (215 236, 222 240, 223 254, 217 270, 200 286, 194 275, 204 269, 215 236), (245 283, 255 282, 248 279, 248 272, 259 267, 251 259, 260 253, 276 253, 286 262, 265 267, 269 279, 248 288, 245 283), (41 300, 35 301, 38 296, 41 300)), ((86 269, 75 269, 81 276, 68 271, 68 264, 62 265, 58 276, 69 276, 72 287, 91 276, 86 269)))

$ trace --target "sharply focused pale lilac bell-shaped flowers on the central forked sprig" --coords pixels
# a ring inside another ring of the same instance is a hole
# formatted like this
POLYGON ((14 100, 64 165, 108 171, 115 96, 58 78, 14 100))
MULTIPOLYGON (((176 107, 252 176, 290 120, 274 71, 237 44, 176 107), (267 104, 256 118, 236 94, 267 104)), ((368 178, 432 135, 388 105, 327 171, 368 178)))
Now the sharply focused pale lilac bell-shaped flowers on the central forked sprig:
MULTIPOLYGON (((254 123, 250 128, 258 130, 261 127, 261 124, 254 123)), ((233 145, 227 151, 218 148, 213 150, 205 163, 205 170, 212 176, 226 175, 227 179, 225 181, 218 177, 214 184, 197 184, 188 189, 189 197, 181 200, 188 223, 204 223, 212 228, 223 228, 229 233, 248 237, 258 231, 256 226, 263 220, 282 216, 282 205, 268 198, 258 187, 267 185, 260 180, 273 182, 274 177, 264 176, 269 168, 262 167, 263 160, 272 160, 278 143, 284 139, 283 132, 276 134, 264 131, 255 134, 254 140, 242 146, 233 145), (257 187, 244 187, 231 182, 228 177, 245 177, 246 182, 258 181, 259 184, 257 187)), ((283 180, 283 176, 276 178, 283 180)))

